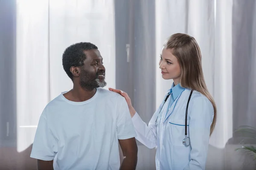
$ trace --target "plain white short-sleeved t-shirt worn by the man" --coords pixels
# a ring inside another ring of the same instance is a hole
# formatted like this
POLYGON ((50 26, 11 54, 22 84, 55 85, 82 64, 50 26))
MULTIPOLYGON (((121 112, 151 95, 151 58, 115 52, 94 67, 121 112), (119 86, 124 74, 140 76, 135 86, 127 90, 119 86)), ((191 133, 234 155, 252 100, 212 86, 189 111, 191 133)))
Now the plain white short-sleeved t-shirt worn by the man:
POLYGON ((135 137, 125 98, 97 88, 84 102, 63 93, 41 114, 30 157, 50 161, 55 170, 118 170, 118 139, 135 137))

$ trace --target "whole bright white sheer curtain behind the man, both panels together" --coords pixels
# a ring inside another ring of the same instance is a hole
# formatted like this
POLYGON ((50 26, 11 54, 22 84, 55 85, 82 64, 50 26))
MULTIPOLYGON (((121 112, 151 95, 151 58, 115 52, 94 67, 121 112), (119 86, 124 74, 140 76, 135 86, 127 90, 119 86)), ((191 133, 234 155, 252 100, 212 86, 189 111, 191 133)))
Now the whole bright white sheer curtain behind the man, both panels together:
POLYGON ((106 82, 115 88, 113 0, 17 1, 17 150, 32 144, 41 112, 73 88, 62 54, 76 42, 98 46, 106 82))

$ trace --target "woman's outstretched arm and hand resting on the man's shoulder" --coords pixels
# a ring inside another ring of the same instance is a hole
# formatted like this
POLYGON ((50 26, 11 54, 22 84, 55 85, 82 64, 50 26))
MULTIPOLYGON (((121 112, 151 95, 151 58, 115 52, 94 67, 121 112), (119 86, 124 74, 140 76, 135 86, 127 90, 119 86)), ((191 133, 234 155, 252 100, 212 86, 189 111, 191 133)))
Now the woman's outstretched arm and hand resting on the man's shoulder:
POLYGON ((149 124, 147 125, 145 122, 143 122, 139 114, 135 111, 135 109, 131 105, 131 99, 127 93, 121 90, 113 89, 113 88, 109 88, 109 90, 119 93, 125 98, 128 104, 131 117, 132 117, 132 122, 135 128, 135 131, 137 134, 136 139, 148 148, 156 147, 157 146, 157 139, 156 139, 157 125, 155 124, 155 120, 157 116, 154 116, 155 115, 154 114, 149 124))

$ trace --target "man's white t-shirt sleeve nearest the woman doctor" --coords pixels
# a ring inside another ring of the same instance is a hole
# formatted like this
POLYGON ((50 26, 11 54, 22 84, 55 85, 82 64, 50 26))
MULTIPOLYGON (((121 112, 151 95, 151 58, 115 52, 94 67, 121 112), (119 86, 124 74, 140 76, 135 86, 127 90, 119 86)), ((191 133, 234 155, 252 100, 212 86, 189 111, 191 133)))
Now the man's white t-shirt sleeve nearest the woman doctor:
POLYGON ((136 137, 130 111, 127 102, 123 97, 117 102, 116 130, 118 139, 130 139, 136 137))

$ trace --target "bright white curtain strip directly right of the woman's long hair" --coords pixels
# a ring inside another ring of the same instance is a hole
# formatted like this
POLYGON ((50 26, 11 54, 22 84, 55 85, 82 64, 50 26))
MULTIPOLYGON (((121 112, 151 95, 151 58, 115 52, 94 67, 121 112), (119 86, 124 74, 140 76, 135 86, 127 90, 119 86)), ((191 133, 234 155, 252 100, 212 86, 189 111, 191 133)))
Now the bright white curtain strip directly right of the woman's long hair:
POLYGON ((233 0, 216 0, 214 99, 217 123, 210 144, 224 148, 233 133, 232 79, 232 7, 233 0))

